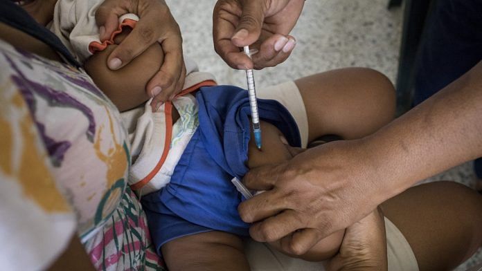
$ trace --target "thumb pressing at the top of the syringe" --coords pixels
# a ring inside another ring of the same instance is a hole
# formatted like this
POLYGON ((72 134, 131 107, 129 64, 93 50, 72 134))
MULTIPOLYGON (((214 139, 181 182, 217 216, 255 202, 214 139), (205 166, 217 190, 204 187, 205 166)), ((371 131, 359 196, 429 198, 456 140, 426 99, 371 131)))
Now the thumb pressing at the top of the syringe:
POLYGON ((242 47, 255 43, 261 35, 261 27, 265 21, 263 1, 246 0, 241 4, 242 14, 231 41, 242 47))

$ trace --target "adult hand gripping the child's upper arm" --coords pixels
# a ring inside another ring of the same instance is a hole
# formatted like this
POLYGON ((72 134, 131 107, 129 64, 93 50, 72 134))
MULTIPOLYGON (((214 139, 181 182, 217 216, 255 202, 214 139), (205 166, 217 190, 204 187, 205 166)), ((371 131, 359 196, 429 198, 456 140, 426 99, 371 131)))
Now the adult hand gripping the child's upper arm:
POLYGON ((171 100, 181 91, 186 76, 182 53, 182 37, 177 22, 163 0, 105 0, 96 11, 100 40, 111 37, 118 28, 118 17, 126 13, 139 16, 139 22, 130 34, 109 55, 107 66, 117 70, 127 65, 152 44, 159 42, 164 51, 164 63, 146 86, 154 97, 151 105, 171 100))

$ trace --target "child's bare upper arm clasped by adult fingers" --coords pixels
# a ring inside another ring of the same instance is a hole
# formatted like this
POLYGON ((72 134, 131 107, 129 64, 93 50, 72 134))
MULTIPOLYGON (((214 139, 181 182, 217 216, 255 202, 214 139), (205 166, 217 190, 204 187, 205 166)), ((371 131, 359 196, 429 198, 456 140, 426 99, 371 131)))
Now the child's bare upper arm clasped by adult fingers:
POLYGON ((105 50, 93 54, 84 64, 85 71, 102 92, 114 102, 119 111, 132 109, 149 100, 145 92, 146 84, 159 71, 164 53, 160 44, 152 44, 130 64, 112 71, 107 67, 107 57, 117 44, 128 35, 130 28, 116 36, 114 43, 105 50))

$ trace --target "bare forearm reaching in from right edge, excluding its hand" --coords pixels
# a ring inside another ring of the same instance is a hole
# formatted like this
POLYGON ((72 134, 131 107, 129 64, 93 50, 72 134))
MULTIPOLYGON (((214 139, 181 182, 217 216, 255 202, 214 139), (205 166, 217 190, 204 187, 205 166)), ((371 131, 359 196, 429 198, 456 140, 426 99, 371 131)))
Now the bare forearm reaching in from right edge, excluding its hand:
POLYGON ((418 180, 482 156, 482 62, 366 138, 377 180, 390 198, 418 180))

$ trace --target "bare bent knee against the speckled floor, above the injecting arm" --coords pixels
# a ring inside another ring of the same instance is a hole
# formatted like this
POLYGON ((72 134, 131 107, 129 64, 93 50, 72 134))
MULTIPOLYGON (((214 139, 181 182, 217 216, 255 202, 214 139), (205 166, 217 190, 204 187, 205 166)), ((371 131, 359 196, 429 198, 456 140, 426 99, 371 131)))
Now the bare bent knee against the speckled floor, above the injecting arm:
POLYGON ((368 136, 393 120, 395 91, 381 73, 343 68, 295 81, 308 118, 308 142, 325 135, 368 136))

